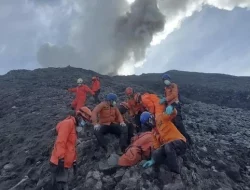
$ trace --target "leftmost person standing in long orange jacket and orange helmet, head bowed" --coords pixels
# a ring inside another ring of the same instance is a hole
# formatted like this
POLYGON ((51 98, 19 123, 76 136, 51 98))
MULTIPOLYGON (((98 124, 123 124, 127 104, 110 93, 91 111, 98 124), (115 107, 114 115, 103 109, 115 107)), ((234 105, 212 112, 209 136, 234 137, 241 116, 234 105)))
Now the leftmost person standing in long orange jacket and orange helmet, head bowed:
POLYGON ((50 158, 53 190, 68 190, 69 169, 77 172, 77 133, 91 121, 91 111, 80 108, 76 116, 69 116, 56 126, 57 137, 50 158))

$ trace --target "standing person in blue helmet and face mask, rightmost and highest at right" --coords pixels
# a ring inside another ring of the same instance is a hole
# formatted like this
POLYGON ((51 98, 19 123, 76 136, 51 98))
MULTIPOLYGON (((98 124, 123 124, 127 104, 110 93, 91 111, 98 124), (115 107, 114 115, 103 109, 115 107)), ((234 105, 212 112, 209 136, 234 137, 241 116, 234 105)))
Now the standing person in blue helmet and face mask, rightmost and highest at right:
POLYGON ((168 74, 162 76, 162 81, 165 84, 165 97, 161 98, 159 101, 162 105, 172 105, 177 110, 177 115, 173 119, 174 125, 177 129, 184 135, 187 139, 188 144, 192 144, 192 140, 189 134, 186 132, 185 126, 183 124, 182 112, 181 112, 181 103, 179 101, 179 91, 178 86, 175 83, 171 82, 171 78, 168 74))

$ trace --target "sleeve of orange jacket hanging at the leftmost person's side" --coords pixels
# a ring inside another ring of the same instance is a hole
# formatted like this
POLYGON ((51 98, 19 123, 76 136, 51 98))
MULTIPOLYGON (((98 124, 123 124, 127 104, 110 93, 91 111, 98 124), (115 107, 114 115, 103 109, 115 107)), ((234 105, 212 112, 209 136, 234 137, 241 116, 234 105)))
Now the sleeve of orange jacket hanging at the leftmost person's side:
POLYGON ((61 124, 58 129, 58 135, 55 142, 56 156, 58 159, 64 158, 66 152, 66 143, 68 136, 71 132, 72 128, 68 123, 61 124))

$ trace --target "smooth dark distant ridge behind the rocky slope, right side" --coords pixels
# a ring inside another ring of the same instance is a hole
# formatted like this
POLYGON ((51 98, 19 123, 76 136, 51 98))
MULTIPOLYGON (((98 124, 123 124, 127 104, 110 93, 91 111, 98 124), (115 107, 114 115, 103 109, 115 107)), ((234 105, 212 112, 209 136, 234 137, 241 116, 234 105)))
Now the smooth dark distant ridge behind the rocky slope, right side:
MULTIPOLYGON (((179 85, 182 96, 219 106, 250 109, 250 77, 183 71, 168 73, 179 85)), ((163 92, 161 74, 118 76, 117 80, 140 85, 158 93, 163 92)))

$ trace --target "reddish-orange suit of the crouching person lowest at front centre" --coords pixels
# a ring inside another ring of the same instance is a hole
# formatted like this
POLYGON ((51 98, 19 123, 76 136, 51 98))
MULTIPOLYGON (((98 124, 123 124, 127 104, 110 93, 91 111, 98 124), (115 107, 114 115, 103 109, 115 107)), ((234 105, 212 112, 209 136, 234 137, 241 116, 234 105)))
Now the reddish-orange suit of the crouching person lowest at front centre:
POLYGON ((143 159, 150 157, 153 150, 152 132, 144 132, 132 138, 131 145, 126 152, 119 158, 119 166, 133 166, 143 159))

